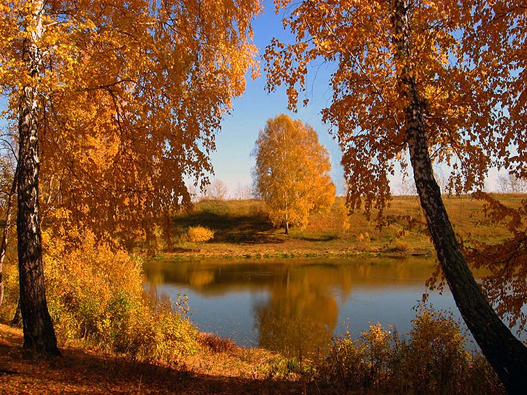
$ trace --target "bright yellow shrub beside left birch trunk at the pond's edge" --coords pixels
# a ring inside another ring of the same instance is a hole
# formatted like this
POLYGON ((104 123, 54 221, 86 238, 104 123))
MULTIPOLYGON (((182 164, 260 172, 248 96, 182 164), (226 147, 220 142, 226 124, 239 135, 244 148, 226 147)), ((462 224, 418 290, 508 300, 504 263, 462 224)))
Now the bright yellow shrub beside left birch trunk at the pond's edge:
POLYGON ((43 233, 48 306, 59 340, 164 362, 198 350, 188 318, 144 298, 139 258, 97 243, 90 232, 78 240, 66 248, 43 233))

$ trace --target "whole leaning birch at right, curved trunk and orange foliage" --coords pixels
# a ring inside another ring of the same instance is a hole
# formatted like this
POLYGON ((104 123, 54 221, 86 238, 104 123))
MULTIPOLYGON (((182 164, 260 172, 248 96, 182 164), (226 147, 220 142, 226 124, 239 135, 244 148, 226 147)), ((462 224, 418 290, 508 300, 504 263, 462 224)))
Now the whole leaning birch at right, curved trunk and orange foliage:
MULTIPOLYGON (((517 12, 525 13, 514 3, 517 12)), ((290 1, 279 1, 279 6, 290 6, 290 1)), ((474 42, 482 8, 489 6, 479 8, 475 1, 302 1, 284 20, 296 42, 273 40, 265 57, 269 89, 285 84, 290 107, 305 91, 309 63, 332 62, 333 98, 322 117, 336 127, 352 208, 376 208, 382 216, 395 164, 405 173, 411 164, 457 307, 507 392, 520 394, 527 387, 527 348, 496 315, 470 272, 433 177, 432 162, 450 165, 450 185, 461 193, 482 189, 493 164, 523 168, 521 157, 507 158, 505 148, 513 144, 521 150, 524 132, 509 134, 514 128, 497 127, 504 119, 499 104, 507 86, 500 84, 503 74, 491 72, 496 56, 489 61, 464 45, 474 42)), ((503 40, 493 47, 500 44, 503 40)))

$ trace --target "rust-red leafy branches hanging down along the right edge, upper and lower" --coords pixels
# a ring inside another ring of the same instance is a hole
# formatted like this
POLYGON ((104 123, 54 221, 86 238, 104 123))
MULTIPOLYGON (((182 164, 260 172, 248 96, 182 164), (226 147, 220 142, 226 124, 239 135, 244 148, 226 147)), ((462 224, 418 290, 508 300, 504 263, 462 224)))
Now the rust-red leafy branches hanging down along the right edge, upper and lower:
MULTIPOLYGON (((496 96, 494 114, 498 140, 495 165, 505 176, 498 178, 502 192, 521 192, 527 180, 527 8, 521 0, 473 1, 472 23, 463 49, 484 65, 484 81, 496 96)), ((525 192, 525 191, 524 191, 525 192)), ((506 318, 510 327, 525 331, 527 314, 527 199, 512 208, 496 196, 479 192, 483 213, 491 226, 505 226, 510 238, 497 245, 468 238, 463 251, 475 268, 484 268, 482 288, 506 318)))

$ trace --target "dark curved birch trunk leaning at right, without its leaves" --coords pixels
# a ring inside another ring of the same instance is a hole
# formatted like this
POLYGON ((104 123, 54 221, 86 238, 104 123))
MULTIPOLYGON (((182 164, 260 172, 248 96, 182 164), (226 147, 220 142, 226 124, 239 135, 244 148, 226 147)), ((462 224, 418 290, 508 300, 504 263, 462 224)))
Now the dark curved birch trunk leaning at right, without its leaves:
MULTIPOLYGON (((405 1, 394 2, 394 44, 396 60, 408 64, 410 29, 405 1)), ((408 100, 405 114, 406 133, 415 185, 420 196, 433 245, 445 273, 452 295, 463 320, 473 334, 482 353, 498 373, 507 393, 525 394, 527 389, 527 348, 516 339, 492 309, 487 297, 475 281, 461 254, 459 242, 443 205, 440 188, 433 178, 426 124, 425 103, 417 93, 415 79, 408 65, 400 76, 401 95, 408 100)))

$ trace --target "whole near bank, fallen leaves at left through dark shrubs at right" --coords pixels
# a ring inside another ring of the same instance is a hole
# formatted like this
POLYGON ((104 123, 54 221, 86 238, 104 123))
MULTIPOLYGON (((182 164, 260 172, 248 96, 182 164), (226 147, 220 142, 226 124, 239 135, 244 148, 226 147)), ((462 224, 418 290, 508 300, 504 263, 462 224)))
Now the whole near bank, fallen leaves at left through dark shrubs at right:
POLYGON ((442 313, 417 317, 408 341, 379 325, 359 341, 336 339, 327 358, 285 359, 202 334, 202 351, 170 365, 90 347, 31 359, 22 331, 0 324, 2 394, 504 394, 489 364, 463 349, 459 327, 442 313), (435 341, 430 342, 433 336, 435 341), (461 341, 460 341, 461 340, 461 341))

